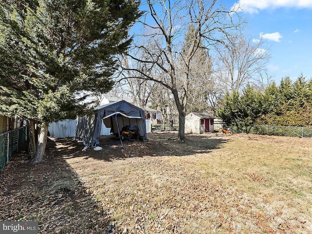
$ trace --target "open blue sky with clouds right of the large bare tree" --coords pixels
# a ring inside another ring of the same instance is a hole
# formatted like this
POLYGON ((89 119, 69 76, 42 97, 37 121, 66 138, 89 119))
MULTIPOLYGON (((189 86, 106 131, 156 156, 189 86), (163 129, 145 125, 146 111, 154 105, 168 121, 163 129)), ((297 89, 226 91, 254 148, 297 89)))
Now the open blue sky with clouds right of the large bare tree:
POLYGON ((220 0, 226 7, 239 4, 248 21, 246 34, 260 37, 270 47, 267 68, 273 80, 301 73, 312 78, 312 0, 220 0))

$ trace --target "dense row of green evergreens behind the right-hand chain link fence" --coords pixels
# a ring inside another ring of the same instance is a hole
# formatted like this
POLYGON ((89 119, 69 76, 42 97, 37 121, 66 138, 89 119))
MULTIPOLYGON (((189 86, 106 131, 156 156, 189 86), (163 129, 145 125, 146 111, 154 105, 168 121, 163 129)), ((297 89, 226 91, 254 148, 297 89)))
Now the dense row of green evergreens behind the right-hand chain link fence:
POLYGON ((242 93, 228 92, 217 117, 237 132, 250 124, 311 127, 312 79, 301 74, 294 82, 289 77, 279 86, 272 82, 264 91, 247 85, 242 93))

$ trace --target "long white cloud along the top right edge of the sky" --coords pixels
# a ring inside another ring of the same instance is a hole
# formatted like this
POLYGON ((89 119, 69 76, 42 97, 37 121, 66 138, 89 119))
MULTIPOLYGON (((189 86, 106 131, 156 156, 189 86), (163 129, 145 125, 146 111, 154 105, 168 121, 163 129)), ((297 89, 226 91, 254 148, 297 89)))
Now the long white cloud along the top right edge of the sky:
POLYGON ((250 14, 258 13, 259 10, 276 8, 312 8, 311 0, 239 0, 232 6, 233 10, 246 11, 250 14))

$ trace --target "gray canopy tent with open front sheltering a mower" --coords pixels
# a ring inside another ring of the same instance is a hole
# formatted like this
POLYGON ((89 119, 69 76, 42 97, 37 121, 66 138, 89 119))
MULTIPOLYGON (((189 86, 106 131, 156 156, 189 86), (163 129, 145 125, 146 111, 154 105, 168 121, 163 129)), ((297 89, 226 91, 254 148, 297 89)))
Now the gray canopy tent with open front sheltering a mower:
POLYGON ((78 117, 75 138, 85 145, 99 144, 102 121, 111 133, 118 134, 124 125, 137 125, 139 136, 147 139, 145 113, 137 106, 125 101, 115 101, 94 108, 93 115, 78 117))

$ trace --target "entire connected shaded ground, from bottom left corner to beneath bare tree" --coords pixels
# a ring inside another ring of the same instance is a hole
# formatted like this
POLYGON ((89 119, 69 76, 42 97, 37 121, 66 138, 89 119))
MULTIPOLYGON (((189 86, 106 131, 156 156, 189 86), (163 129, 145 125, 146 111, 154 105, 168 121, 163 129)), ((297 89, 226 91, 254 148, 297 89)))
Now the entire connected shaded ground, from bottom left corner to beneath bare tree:
POLYGON ((29 156, 20 152, 12 157, 1 172, 0 216, 3 221, 38 221, 39 233, 106 233, 114 220, 109 208, 98 204, 89 194, 78 174, 66 159, 82 157, 88 162, 112 161, 143 156, 187 156, 209 154, 222 148, 229 137, 187 135, 186 142, 177 140, 176 133, 149 134, 149 141, 124 141, 102 137, 102 150, 81 150, 84 145, 72 138, 50 139, 44 160, 29 164, 29 156))

